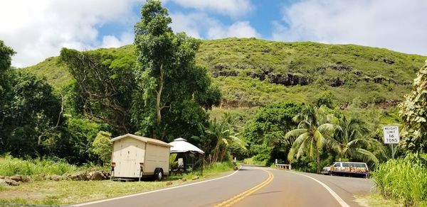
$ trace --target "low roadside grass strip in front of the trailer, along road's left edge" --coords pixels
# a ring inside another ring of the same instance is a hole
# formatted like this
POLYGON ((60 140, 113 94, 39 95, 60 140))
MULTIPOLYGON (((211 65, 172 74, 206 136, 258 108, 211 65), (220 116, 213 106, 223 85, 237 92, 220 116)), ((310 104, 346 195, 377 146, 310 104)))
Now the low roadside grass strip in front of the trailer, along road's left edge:
POLYGON ((0 203, 43 205, 82 203, 186 184, 194 177, 198 177, 197 180, 209 179, 221 172, 230 171, 232 167, 231 162, 214 163, 206 166, 203 175, 193 172, 182 176, 174 175, 163 181, 29 181, 20 186, 0 186, 0 203), (183 181, 182 178, 186 178, 187 181, 183 181))

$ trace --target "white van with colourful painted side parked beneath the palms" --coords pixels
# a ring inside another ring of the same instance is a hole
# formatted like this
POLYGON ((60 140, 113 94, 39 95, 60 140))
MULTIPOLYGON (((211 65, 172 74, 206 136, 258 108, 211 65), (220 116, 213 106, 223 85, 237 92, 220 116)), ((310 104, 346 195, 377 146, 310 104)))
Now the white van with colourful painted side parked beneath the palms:
POLYGON ((334 162, 330 167, 324 167, 322 174, 368 177, 369 169, 365 162, 334 162))

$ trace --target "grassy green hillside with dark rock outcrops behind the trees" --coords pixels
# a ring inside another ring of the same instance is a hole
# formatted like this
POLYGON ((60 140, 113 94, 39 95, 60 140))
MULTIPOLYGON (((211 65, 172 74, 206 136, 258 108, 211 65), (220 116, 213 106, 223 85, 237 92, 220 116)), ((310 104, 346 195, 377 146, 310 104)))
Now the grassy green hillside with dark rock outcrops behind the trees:
MULTIPOLYGON (((132 45, 115 50, 135 55, 132 45), (125 51, 124 51, 125 50, 125 51)), ((262 106, 276 101, 332 99, 394 106, 408 93, 427 57, 358 45, 281 43, 255 38, 203 40, 197 62, 206 66, 223 92, 223 106, 262 106)), ((56 88, 70 80, 50 57, 29 71, 56 88)))

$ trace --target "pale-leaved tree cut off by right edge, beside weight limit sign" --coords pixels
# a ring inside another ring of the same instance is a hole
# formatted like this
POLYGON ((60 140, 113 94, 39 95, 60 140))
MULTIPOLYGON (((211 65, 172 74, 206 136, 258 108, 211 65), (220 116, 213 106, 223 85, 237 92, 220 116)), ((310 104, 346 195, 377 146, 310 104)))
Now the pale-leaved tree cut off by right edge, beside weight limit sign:
POLYGON ((427 61, 399 108, 405 121, 401 147, 408 152, 427 152, 427 61))

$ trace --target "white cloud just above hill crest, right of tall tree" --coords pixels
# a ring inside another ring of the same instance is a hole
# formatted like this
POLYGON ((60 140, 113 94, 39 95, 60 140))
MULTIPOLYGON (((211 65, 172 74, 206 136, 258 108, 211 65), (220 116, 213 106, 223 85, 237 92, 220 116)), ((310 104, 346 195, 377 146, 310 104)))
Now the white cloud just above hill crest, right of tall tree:
POLYGON ((260 38, 260 34, 248 21, 236 21, 227 26, 206 13, 172 13, 172 29, 185 32, 194 38, 260 38))

